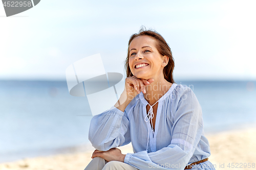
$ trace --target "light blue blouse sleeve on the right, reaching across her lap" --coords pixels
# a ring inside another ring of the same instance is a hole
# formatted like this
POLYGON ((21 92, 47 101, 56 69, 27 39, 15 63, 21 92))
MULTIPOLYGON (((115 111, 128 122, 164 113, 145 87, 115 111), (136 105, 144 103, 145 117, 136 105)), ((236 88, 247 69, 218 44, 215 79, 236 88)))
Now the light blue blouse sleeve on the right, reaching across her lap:
POLYGON ((126 154, 124 162, 139 169, 184 169, 195 152, 203 131, 202 110, 194 92, 179 86, 173 96, 171 120, 172 140, 156 152, 140 151, 126 154))

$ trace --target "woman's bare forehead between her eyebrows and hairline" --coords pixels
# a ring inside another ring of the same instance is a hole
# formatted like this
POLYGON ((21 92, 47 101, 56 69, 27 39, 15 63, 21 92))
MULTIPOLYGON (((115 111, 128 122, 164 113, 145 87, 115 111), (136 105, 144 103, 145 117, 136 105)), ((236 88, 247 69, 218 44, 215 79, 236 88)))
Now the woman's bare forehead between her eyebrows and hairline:
MULTIPOLYGON (((151 46, 152 48, 155 47, 155 39, 147 36, 147 35, 141 35, 132 40, 130 43, 130 50, 132 48, 141 48, 143 46, 151 46)), ((137 49, 138 50, 138 49, 137 49)))

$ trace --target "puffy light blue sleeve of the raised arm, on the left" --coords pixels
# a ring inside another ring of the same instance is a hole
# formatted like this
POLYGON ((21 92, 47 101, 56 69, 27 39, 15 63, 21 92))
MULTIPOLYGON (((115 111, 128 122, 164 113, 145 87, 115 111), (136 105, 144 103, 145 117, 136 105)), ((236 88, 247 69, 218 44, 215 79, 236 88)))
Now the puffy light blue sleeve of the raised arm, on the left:
POLYGON ((116 107, 95 115, 90 124, 89 140, 99 151, 108 151, 131 142, 126 112, 116 107))

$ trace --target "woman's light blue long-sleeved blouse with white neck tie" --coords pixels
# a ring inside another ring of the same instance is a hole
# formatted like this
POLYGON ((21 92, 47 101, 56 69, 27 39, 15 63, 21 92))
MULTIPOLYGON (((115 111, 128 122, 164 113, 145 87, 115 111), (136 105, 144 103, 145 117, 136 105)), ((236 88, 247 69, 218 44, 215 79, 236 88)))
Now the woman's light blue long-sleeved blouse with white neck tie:
MULTIPOLYGON (((93 147, 108 151, 132 142, 134 153, 126 154, 124 162, 138 169, 184 169, 187 164, 208 158, 209 142, 204 136, 202 109, 195 93, 174 83, 158 102, 154 133, 150 122, 144 119, 148 102, 142 92, 124 112, 112 106, 94 116, 89 130, 93 147)), ((206 161, 192 169, 215 166, 206 161)))

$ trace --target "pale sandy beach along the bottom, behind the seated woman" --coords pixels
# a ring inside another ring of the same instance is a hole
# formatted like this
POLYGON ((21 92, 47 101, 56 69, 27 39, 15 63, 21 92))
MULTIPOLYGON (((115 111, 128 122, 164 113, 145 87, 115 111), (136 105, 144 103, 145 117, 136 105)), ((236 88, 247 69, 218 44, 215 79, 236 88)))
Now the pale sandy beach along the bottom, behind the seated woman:
MULTIPOLYGON (((216 165, 216 169, 256 169, 255 134, 256 128, 249 128, 206 135, 211 149, 209 161, 216 165), (254 168, 252 166, 253 163, 254 168), (249 165, 251 167, 248 167, 249 165)), ((133 153, 131 144, 120 147, 119 149, 123 154, 133 153)), ((86 152, 59 154, 47 157, 27 158, 15 162, 6 162, 0 164, 0 169, 79 170, 84 169, 91 161, 93 151, 94 149, 91 147, 88 148, 86 152)))

